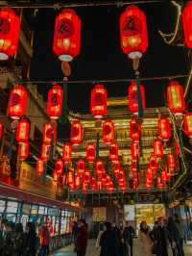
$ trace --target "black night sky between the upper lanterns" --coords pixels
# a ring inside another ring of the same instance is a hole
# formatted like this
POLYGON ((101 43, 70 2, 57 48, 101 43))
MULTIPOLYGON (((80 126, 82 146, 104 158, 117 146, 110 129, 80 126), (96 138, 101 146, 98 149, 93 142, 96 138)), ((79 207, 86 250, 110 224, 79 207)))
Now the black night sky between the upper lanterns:
MULTIPOLYGON (((188 72, 187 51, 165 44, 158 30, 172 32, 176 10, 167 4, 145 4, 139 7, 146 13, 149 48, 140 64, 142 77, 184 74, 188 72)), ((82 50, 72 62, 70 80, 99 80, 133 78, 132 64, 120 48, 119 16, 124 8, 77 8, 82 19, 82 50)), ((54 10, 39 10, 35 19, 35 55, 32 79, 61 80, 60 61, 52 51, 54 10)), ((185 81, 181 81, 184 84, 185 81)), ((168 81, 145 82, 147 107, 163 105, 163 87, 168 81)), ((126 96, 129 83, 105 84, 108 96, 126 96)), ((92 84, 70 85, 68 104, 74 111, 89 110, 89 91, 92 84)), ((46 98, 51 85, 39 85, 46 98)))

